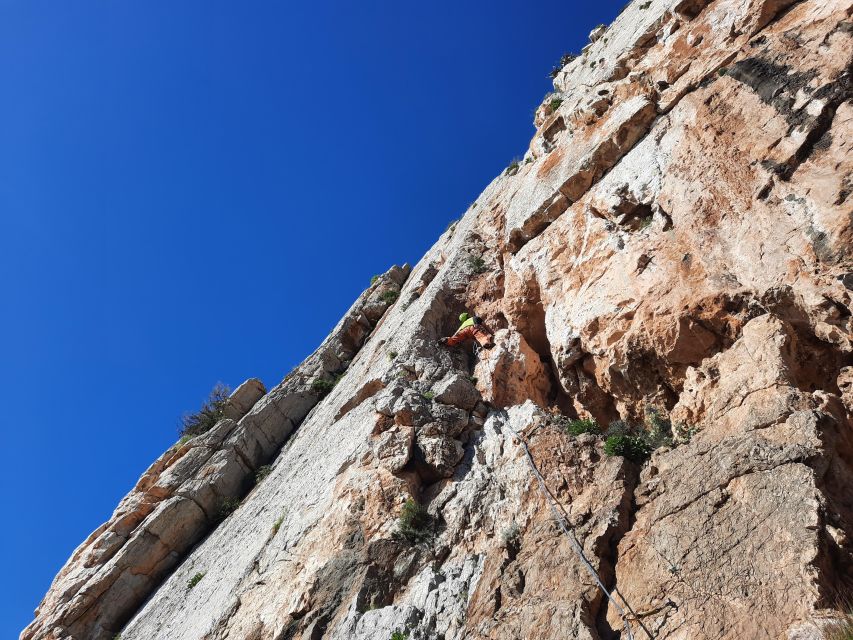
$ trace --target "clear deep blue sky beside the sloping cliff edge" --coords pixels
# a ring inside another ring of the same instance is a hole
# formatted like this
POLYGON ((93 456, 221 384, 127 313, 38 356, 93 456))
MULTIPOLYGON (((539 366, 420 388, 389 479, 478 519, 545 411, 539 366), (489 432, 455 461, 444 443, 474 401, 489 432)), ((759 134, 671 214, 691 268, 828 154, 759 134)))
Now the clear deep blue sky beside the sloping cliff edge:
POLYGON ((0 0, 0 637, 217 381, 276 384, 624 0, 0 0))

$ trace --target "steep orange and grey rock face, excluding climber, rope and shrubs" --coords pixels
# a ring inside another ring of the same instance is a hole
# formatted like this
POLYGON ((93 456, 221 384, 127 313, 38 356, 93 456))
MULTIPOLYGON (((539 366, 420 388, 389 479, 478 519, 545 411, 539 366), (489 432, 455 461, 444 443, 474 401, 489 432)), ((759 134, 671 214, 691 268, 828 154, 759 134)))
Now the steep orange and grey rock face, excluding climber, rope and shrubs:
POLYGON ((524 160, 156 461, 21 637, 819 638, 853 592, 851 14, 595 28, 524 160), (495 347, 439 346, 471 309, 495 347))

